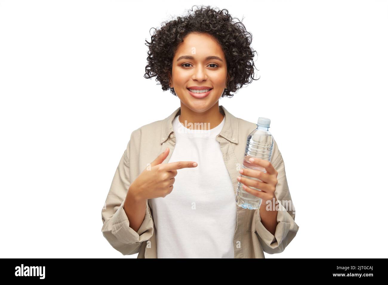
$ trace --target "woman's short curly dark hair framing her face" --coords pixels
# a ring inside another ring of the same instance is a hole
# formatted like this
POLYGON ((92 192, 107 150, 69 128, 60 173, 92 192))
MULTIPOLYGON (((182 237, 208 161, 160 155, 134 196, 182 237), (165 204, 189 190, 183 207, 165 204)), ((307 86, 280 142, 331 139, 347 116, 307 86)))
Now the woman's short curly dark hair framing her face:
POLYGON ((227 9, 215 10, 202 5, 199 9, 197 7, 193 14, 192 11, 191 8, 184 17, 178 16, 172 21, 162 22, 162 27, 155 29, 151 35, 151 42, 145 40, 149 50, 144 77, 149 79, 156 76, 155 80, 160 82, 158 85, 162 85, 163 91, 170 89, 170 92, 177 96, 174 88, 170 87, 172 60, 177 46, 188 33, 208 33, 218 40, 227 61, 230 78, 221 97, 232 98, 233 94, 230 92, 236 92, 243 85, 259 79, 253 78, 253 57, 256 51, 250 47, 252 34, 248 33, 244 24, 233 18, 227 9))

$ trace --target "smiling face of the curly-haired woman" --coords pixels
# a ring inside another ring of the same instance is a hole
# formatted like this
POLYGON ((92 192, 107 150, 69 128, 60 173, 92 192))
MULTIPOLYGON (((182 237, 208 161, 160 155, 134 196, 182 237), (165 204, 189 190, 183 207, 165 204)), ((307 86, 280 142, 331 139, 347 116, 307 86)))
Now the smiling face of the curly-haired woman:
POLYGON ((218 102, 227 87, 227 62, 220 44, 206 33, 190 33, 178 45, 172 64, 170 87, 194 112, 204 112, 218 102), (211 89, 206 93, 189 89, 211 89))

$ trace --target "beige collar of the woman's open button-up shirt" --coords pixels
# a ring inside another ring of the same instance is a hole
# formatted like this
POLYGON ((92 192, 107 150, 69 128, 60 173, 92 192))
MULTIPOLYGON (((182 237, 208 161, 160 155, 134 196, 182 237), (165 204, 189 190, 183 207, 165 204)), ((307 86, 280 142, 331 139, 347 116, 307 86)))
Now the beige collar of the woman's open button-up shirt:
MULTIPOLYGON (((222 105, 218 107, 220 108, 220 112, 225 115, 225 124, 223 125, 219 135, 229 140, 229 142, 238 143, 239 126, 237 123, 237 118, 230 114, 227 109, 225 109, 225 107, 223 107, 222 105)), ((178 115, 180 115, 180 107, 176 109, 170 116, 166 117, 166 119, 163 120, 160 139, 161 144, 165 142, 168 136, 170 136, 170 134, 174 131, 172 121, 178 115)))

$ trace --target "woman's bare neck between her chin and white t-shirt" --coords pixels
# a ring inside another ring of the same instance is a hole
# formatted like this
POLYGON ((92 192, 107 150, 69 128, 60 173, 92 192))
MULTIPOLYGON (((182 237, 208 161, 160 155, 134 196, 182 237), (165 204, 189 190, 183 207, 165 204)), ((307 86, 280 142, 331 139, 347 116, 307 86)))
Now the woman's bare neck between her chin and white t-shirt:
POLYGON ((191 130, 211 130, 217 127, 222 122, 223 118, 224 115, 220 113, 218 101, 210 109, 204 112, 194 112, 182 104, 182 102, 180 103, 179 121, 191 130))

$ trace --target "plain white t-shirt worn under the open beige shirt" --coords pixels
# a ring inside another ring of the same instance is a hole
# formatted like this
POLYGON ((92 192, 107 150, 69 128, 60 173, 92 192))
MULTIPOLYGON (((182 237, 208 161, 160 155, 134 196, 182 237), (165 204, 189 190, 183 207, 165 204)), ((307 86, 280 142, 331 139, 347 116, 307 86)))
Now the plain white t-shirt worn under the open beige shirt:
POLYGON ((225 117, 211 130, 190 130, 179 116, 172 122, 176 143, 168 162, 198 166, 178 169, 171 193, 148 200, 158 258, 234 258, 236 197, 216 140, 224 123, 225 117))

